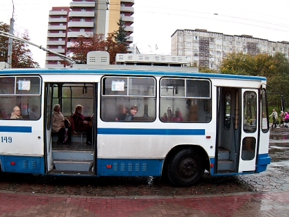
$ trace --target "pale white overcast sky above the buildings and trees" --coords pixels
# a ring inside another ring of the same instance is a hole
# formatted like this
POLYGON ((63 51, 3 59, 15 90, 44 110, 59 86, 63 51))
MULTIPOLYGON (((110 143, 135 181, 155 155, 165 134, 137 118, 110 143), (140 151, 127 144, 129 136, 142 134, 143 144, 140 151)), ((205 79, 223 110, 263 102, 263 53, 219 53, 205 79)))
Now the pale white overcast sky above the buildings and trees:
MULTIPOLYGON (((48 13, 71 0, 13 0, 14 29, 27 29, 32 43, 46 47, 48 13)), ((135 0, 133 43, 142 54, 171 54, 175 30, 204 29, 230 35, 250 35, 269 41, 289 41, 289 1, 135 0), (157 46, 156 46, 157 45, 157 46), (158 47, 158 49, 156 49, 158 47)), ((0 0, 0 21, 10 24, 12 0, 0 0)), ((45 52, 31 47, 45 65, 45 52)))

